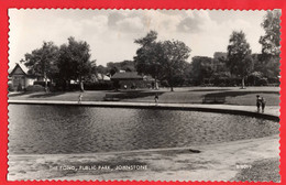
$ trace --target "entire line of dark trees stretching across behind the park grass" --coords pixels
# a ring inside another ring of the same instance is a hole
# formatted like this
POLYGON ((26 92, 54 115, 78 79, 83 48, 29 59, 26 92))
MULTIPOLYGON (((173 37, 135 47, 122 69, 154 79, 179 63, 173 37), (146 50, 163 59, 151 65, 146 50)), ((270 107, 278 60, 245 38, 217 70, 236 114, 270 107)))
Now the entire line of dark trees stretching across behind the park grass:
MULTIPOLYGON (((65 89, 70 80, 88 81, 97 73, 112 76, 120 69, 151 75, 162 85, 230 85, 229 79, 238 79, 242 87, 250 79, 274 79, 278 81, 280 54, 280 11, 267 11, 262 22, 265 35, 261 36, 261 54, 252 54, 245 33, 233 31, 226 53, 215 53, 212 57, 195 56, 188 63, 191 48, 182 41, 157 41, 158 33, 150 31, 144 37, 134 41, 140 47, 133 61, 108 63, 107 67, 96 65, 90 59, 90 46, 85 41, 69 37, 67 44, 56 46, 44 42, 41 48, 25 54, 24 64, 29 73, 42 76, 65 89)), ((233 81, 232 81, 233 83, 233 81)), ((234 83, 234 84, 235 84, 234 83)), ((253 84, 252 84, 253 85, 253 84)), ((255 85, 255 83, 254 83, 255 85)), ((81 86, 80 86, 81 87, 81 86)), ((82 88, 82 87, 81 87, 82 88)))

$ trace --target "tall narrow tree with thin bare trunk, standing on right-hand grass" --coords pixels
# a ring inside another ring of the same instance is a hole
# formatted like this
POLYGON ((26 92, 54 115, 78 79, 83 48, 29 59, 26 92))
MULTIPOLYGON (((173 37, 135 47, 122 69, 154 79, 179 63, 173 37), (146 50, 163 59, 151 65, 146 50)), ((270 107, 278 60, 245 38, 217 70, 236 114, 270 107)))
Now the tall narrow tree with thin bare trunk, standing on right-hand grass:
POLYGON ((228 67, 230 73, 241 77, 241 86, 244 88, 244 79, 253 69, 250 44, 246 42, 245 34, 232 32, 228 46, 228 67))

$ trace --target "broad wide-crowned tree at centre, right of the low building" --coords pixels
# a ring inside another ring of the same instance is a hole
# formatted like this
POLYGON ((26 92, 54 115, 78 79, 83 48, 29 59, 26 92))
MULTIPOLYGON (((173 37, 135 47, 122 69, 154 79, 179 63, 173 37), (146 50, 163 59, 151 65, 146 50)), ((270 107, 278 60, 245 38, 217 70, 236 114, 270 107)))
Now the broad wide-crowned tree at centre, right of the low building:
POLYGON ((179 41, 157 42, 157 33, 151 31, 145 37, 135 40, 141 47, 134 57, 139 73, 148 74, 157 79, 166 79, 174 90, 174 77, 184 73, 190 48, 179 41))

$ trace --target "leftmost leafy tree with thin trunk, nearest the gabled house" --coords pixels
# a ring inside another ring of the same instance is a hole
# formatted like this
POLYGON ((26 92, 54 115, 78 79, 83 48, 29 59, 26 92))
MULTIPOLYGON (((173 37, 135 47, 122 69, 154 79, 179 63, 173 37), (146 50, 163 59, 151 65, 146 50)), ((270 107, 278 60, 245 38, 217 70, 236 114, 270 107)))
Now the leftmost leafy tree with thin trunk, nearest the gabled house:
POLYGON ((25 54, 24 65, 29 68, 29 73, 44 78, 46 91, 47 78, 53 79, 58 72, 57 59, 58 47, 53 42, 44 42, 41 48, 25 54))

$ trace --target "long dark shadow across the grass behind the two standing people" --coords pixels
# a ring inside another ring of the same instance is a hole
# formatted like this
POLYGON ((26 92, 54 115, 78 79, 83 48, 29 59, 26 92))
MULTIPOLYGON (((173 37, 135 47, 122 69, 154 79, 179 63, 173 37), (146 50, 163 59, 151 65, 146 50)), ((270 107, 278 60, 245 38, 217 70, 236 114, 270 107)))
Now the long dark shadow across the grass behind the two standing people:
POLYGON ((277 94, 279 95, 279 91, 220 91, 220 92, 213 92, 213 94, 207 94, 205 97, 237 97, 237 96, 244 96, 250 94, 277 94))

